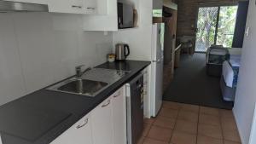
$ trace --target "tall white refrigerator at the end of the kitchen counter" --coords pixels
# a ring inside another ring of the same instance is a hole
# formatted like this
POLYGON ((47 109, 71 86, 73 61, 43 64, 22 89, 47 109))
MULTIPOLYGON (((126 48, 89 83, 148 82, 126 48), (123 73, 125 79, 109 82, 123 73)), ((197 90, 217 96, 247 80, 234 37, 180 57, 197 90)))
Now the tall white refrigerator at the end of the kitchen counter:
POLYGON ((156 117, 162 105, 163 87, 163 42, 164 24, 156 23, 152 31, 152 71, 151 71, 151 116, 156 117))

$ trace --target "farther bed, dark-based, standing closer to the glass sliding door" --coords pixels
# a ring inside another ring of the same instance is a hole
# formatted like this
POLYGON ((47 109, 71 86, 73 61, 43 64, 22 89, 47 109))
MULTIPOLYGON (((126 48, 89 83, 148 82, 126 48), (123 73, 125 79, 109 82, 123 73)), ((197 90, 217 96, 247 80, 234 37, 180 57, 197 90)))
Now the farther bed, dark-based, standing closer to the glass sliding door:
POLYGON ((212 45, 207 49, 207 74, 209 76, 220 77, 223 62, 229 59, 230 53, 227 48, 220 45, 212 45))

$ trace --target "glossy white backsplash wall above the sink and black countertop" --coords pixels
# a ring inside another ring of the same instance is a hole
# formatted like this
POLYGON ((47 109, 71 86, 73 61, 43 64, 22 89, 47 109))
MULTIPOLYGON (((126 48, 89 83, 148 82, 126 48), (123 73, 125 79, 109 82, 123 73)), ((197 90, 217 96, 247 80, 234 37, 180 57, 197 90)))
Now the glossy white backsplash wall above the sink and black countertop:
POLYGON ((0 105, 96 66, 112 50, 112 33, 83 32, 79 14, 0 14, 0 105))

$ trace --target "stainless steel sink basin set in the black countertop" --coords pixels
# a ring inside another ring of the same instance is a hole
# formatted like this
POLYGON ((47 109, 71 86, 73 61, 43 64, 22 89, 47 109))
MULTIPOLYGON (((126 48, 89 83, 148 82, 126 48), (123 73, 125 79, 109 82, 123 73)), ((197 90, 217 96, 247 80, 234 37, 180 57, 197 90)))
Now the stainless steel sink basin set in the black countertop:
POLYGON ((49 90, 66 92, 77 95, 95 96, 106 87, 108 83, 89 79, 69 79, 61 84, 50 87, 49 90))

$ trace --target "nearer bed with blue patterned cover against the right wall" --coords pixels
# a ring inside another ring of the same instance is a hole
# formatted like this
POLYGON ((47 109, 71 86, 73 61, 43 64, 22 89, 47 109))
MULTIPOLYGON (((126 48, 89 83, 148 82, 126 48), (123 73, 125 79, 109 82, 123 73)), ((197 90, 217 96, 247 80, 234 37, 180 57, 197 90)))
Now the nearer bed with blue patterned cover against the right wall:
POLYGON ((241 49, 231 49, 230 60, 225 60, 223 63, 220 88, 224 101, 235 100, 240 61, 241 49))

